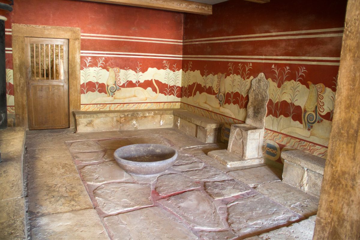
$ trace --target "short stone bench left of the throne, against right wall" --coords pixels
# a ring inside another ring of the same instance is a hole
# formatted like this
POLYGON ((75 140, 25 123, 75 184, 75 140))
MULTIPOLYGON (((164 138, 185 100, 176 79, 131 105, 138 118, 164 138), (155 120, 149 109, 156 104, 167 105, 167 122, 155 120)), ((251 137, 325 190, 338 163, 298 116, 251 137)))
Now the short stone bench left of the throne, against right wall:
POLYGON ((200 141, 213 143, 220 141, 220 122, 198 116, 186 110, 174 110, 174 127, 186 135, 197 137, 200 141))

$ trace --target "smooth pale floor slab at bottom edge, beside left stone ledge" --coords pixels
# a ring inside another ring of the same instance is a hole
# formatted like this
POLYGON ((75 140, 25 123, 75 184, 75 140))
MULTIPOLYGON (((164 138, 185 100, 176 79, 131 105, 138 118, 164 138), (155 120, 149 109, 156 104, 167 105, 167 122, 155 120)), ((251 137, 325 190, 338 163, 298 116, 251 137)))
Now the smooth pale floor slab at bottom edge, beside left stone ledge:
POLYGON ((31 219, 32 239, 109 239, 95 209, 31 219))

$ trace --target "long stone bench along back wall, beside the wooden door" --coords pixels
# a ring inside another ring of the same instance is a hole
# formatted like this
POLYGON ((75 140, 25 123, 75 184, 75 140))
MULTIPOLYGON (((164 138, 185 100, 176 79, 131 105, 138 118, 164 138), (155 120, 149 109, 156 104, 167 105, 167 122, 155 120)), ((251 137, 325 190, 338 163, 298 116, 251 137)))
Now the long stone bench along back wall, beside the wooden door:
POLYGON ((74 111, 76 132, 166 128, 174 125, 172 109, 74 111))

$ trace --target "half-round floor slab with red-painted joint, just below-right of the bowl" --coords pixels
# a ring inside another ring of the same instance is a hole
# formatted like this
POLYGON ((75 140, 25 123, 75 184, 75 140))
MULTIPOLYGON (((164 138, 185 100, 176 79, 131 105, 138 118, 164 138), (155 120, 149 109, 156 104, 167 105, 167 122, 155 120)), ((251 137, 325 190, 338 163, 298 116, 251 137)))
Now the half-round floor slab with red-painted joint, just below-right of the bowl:
POLYGON ((182 174, 166 174, 158 177, 155 189, 160 195, 166 196, 197 187, 200 187, 199 183, 182 174))

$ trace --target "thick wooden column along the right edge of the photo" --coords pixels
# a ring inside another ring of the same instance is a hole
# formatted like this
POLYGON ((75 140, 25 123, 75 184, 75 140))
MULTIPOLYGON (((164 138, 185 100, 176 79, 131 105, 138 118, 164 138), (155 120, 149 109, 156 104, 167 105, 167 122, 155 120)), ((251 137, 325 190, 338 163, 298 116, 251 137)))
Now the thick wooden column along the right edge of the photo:
POLYGON ((314 239, 360 238, 360 1, 348 0, 314 239))

